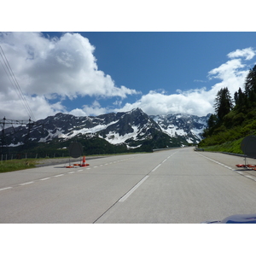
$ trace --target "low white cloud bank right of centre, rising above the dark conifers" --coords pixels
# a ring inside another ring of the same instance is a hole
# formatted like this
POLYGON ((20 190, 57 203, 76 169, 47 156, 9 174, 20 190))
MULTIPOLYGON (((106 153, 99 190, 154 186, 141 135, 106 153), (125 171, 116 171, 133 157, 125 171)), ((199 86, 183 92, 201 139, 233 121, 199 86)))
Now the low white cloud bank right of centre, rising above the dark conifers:
POLYGON ((226 61, 208 73, 208 79, 220 81, 214 84, 210 90, 207 90, 206 87, 187 91, 177 90, 177 94, 172 95, 152 90, 137 102, 126 103, 123 108, 115 109, 115 111, 142 108, 148 114, 189 113, 203 116, 207 113, 214 113, 213 105, 218 90, 228 87, 230 95, 234 96, 239 87, 242 89, 249 70, 246 61, 251 60, 254 55, 255 51, 252 48, 236 49, 231 52, 228 55, 232 58, 230 61, 226 61))

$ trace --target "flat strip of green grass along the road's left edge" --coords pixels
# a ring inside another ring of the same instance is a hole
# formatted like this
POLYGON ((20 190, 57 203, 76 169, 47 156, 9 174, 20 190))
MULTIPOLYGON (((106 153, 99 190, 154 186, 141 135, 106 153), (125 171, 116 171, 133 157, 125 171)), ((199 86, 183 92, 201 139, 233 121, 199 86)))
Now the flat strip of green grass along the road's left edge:
POLYGON ((2 160, 0 172, 13 172, 29 168, 35 168, 39 159, 2 160))

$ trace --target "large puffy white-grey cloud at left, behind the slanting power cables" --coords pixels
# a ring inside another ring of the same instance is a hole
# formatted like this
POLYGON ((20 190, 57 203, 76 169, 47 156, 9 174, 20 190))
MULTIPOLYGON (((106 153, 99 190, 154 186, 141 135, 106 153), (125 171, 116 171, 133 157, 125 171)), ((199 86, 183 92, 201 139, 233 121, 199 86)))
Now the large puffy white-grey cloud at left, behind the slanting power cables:
MULTIPOLYGON (((79 33, 45 38, 40 32, 1 32, 0 44, 37 119, 65 110, 61 100, 67 97, 119 96, 123 99, 137 94, 137 90, 116 86, 110 75, 98 70, 93 55, 95 47, 79 33), (51 105, 51 99, 60 101, 51 105), (40 107, 34 106, 35 101, 40 107)), ((3 60, 1 62, 3 64, 3 60)), ((3 68, 0 82, 0 115, 24 119, 27 114, 22 101, 14 96, 15 88, 3 68)))

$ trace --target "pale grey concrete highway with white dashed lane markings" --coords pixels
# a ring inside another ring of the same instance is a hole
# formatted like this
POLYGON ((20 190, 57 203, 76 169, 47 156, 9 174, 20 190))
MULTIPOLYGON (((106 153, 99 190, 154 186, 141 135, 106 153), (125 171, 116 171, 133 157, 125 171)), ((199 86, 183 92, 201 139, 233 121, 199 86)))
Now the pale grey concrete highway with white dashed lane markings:
POLYGON ((255 213, 256 172, 238 170, 243 162, 177 148, 1 173, 0 223, 189 224, 255 213))

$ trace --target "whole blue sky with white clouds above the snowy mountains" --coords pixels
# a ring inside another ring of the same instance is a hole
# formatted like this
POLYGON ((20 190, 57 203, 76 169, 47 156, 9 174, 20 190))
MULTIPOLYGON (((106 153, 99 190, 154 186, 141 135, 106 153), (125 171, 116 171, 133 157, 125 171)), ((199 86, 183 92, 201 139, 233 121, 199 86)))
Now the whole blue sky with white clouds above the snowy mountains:
MULTIPOLYGON (((132 108, 203 116, 256 63, 256 32, 2 32, 0 44, 34 119, 132 108)), ((27 119, 0 67, 0 114, 27 119)))

